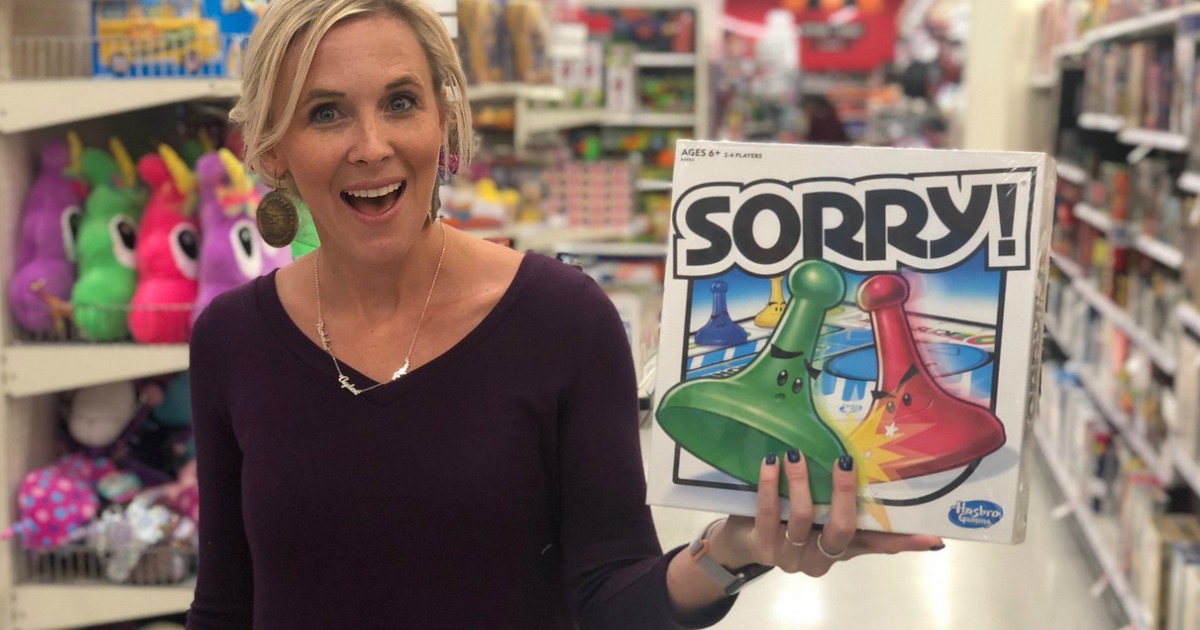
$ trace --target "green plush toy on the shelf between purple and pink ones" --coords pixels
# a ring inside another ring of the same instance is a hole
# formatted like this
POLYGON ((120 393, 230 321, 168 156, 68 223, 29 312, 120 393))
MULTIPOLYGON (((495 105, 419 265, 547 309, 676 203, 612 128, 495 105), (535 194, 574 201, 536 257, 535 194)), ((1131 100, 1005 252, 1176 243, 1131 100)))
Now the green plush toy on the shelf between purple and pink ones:
POLYGON ((79 280, 71 292, 76 326, 92 341, 130 336, 126 313, 137 282, 133 250, 144 202, 130 154, 116 138, 109 145, 112 157, 83 158, 91 192, 79 224, 79 280))

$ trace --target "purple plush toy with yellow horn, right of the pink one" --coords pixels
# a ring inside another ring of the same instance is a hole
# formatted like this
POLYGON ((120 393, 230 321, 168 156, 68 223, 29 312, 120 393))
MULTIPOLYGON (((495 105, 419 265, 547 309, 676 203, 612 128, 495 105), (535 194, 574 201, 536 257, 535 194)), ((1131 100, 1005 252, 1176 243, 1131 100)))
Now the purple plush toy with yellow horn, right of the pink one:
POLYGON ((290 260, 288 250, 263 242, 254 223, 254 180, 228 149, 196 163, 200 187, 200 290, 192 320, 222 293, 290 260))

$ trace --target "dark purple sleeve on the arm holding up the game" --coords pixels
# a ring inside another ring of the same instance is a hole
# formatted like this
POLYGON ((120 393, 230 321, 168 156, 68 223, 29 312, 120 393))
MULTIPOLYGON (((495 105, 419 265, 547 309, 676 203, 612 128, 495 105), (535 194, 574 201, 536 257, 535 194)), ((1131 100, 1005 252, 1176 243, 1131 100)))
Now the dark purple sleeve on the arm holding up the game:
POLYGON ((559 421, 562 541, 571 605, 583 629, 703 628, 732 599, 701 618, 682 619, 670 602, 666 571, 680 550, 662 554, 646 505, 632 356, 616 308, 583 278, 577 372, 559 421))

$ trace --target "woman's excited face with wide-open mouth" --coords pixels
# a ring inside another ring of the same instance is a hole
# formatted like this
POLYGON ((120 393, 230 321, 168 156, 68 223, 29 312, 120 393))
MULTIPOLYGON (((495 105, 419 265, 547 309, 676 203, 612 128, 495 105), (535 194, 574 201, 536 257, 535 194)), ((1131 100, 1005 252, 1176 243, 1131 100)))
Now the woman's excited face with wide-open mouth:
MULTIPOLYGON (((276 94, 295 77, 299 48, 288 50, 276 94)), ((295 115, 264 164, 290 172, 323 246, 374 262, 408 251, 437 179, 436 89, 416 34, 392 16, 352 18, 317 46, 295 115)))

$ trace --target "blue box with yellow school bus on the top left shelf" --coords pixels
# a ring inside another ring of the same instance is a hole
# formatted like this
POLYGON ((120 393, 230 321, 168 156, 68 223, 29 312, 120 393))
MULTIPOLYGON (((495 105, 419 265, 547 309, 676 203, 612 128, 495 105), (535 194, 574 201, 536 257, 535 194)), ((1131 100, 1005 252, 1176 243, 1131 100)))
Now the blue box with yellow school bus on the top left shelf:
MULTIPOLYGON (((265 2, 262 2, 265 5, 265 2)), ((236 77, 258 4, 92 0, 97 77, 236 77)))

